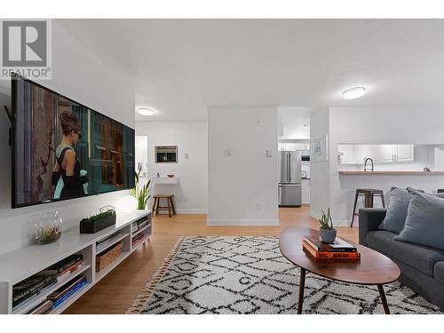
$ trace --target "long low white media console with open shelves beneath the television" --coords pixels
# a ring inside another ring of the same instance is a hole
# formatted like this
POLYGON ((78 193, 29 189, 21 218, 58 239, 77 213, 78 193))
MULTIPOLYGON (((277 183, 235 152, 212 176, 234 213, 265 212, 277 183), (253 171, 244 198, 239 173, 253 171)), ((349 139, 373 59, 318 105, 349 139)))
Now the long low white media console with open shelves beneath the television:
POLYGON ((86 277, 86 284, 51 311, 51 313, 62 313, 87 290, 91 289, 94 284, 111 272, 115 266, 118 266, 125 258, 130 256, 134 250, 137 250, 150 235, 151 210, 136 210, 129 213, 117 212, 115 226, 109 226, 96 234, 80 234, 77 228, 63 233, 57 242, 46 245, 33 244, 0 256, 0 313, 27 313, 67 281, 83 274, 86 277), (147 218, 148 224, 139 230, 135 230, 132 223, 141 218, 147 218), (132 238, 140 233, 144 233, 145 236, 133 245, 132 238), (99 250, 96 249, 96 242, 112 234, 115 234, 115 236, 112 237, 111 241, 107 242, 105 246, 102 245, 99 250), (96 254, 107 250, 116 242, 123 242, 122 253, 109 266, 96 272, 96 254), (69 274, 66 278, 44 289, 36 297, 31 297, 24 304, 12 310, 12 286, 14 284, 76 253, 83 255, 83 265, 79 266, 75 272, 69 274))

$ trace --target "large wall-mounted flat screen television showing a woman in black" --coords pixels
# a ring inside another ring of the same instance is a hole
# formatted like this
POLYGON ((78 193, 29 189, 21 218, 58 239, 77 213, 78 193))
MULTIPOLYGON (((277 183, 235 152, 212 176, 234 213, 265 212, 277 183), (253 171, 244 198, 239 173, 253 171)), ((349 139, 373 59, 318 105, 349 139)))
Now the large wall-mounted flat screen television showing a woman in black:
POLYGON ((12 208, 134 187, 134 130, 12 77, 12 208))

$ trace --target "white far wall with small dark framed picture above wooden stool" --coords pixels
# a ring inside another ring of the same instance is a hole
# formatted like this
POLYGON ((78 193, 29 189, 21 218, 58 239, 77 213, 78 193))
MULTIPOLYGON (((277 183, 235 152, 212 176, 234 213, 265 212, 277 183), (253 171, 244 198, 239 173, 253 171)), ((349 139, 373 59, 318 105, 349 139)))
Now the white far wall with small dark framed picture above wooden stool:
MULTIPOLYGON (((208 147, 206 122, 137 122, 136 135, 148 137, 148 178, 174 174, 178 185, 152 185, 151 195, 174 194, 179 214, 206 213, 208 147), (178 163, 155 163, 155 146, 178 146, 178 163), (185 154, 189 157, 185 158, 185 154)), ((162 202, 164 204, 165 202, 162 202)))

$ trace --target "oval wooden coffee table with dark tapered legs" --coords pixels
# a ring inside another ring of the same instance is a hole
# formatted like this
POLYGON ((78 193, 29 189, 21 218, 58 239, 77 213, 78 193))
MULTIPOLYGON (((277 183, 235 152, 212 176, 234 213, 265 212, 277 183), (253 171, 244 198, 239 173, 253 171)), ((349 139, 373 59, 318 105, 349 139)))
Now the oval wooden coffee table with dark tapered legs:
POLYGON ((306 271, 335 281, 353 284, 377 285, 385 313, 390 314, 383 285, 398 280, 400 268, 390 258, 365 246, 350 242, 361 252, 361 261, 356 263, 318 262, 302 250, 305 235, 319 236, 319 231, 308 228, 290 227, 284 229, 279 238, 282 255, 301 270, 297 313, 302 313, 306 271))

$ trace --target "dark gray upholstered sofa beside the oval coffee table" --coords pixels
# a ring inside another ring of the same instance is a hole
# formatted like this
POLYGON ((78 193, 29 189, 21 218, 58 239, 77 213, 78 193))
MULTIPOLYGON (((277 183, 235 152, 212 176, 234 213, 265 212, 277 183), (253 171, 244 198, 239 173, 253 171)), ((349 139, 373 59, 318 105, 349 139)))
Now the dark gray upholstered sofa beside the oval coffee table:
POLYGON ((444 309, 444 250, 394 240, 397 234, 377 228, 385 212, 374 208, 360 210, 360 244, 391 258, 400 266, 401 283, 444 309))

